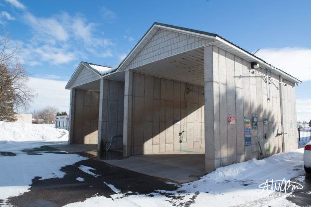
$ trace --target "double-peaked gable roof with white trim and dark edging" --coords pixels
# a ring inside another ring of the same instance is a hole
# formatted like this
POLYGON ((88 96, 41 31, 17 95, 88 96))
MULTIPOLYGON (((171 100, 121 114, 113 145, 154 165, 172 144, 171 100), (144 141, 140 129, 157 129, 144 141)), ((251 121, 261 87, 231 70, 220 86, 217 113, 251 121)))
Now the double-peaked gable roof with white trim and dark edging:
POLYGON ((70 86, 74 82, 75 78, 77 77, 77 75, 79 74, 83 66, 95 72, 97 75, 99 75, 99 77, 110 76, 114 74, 117 75, 117 73, 124 71, 126 67, 131 63, 131 61, 136 57, 136 55, 144 48, 144 46, 148 43, 148 41, 153 37, 153 35, 160 28, 164 30, 175 31, 175 32, 179 32, 179 33, 183 33, 183 34, 187 34, 187 35, 191 35, 195 37, 200 37, 204 39, 210 39, 213 41, 211 44, 216 45, 219 48, 222 48, 249 62, 257 62, 261 68, 270 69, 276 75, 281 75, 283 78, 290 80, 291 82, 302 83, 302 81, 298 80, 297 78, 282 71, 281 69, 274 67, 273 65, 264 61, 263 59, 251 54, 250 52, 233 44, 232 42, 226 40, 225 38, 219 36, 218 34, 154 22, 153 25, 144 34, 144 36, 138 41, 135 47, 130 51, 130 53, 115 67, 110 68, 110 67, 103 66, 103 65, 92 64, 92 63, 81 61, 79 66, 75 70, 74 74, 68 81, 65 88, 66 89, 70 88, 70 86))

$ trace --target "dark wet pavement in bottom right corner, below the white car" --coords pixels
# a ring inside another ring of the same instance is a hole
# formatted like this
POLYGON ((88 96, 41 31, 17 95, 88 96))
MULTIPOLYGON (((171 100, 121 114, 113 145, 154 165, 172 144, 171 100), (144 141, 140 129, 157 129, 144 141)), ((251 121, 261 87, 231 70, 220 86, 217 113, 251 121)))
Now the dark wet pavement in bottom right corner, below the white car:
POLYGON ((301 184, 303 189, 295 190, 286 199, 301 207, 311 206, 311 174, 298 176, 291 181, 301 184))

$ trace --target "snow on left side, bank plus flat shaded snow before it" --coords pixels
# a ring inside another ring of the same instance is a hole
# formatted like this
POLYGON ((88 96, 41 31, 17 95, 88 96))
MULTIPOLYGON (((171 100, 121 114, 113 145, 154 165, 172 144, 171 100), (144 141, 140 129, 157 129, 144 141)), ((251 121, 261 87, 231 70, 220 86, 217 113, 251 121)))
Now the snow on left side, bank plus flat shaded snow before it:
POLYGON ((21 151, 47 145, 47 141, 49 144, 67 144, 68 131, 55 129, 54 125, 0 121, 0 152, 16 154, 0 155, 0 200, 29 191, 36 176, 62 178, 65 173, 60 171, 61 167, 86 159, 76 154, 28 155, 21 151))

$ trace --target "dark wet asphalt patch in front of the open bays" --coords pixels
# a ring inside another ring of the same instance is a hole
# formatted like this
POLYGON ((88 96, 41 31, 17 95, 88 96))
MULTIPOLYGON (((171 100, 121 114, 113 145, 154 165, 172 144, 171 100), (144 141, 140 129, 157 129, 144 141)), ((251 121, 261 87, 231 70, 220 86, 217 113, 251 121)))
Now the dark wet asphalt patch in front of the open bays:
MULTIPOLYGON (((37 154, 38 152, 34 153, 37 154)), ((115 192, 104 182, 120 189, 123 196, 133 194, 150 194, 150 196, 153 196, 151 193, 155 192, 155 190, 172 191, 178 187, 148 175, 92 159, 64 166, 61 171, 66 173, 63 178, 40 180, 40 177, 35 177, 32 180, 29 192, 11 197, 8 202, 16 207, 61 207, 69 203, 84 201, 96 195, 109 198, 115 192), (94 170, 90 171, 99 176, 80 170, 80 166, 94 168, 94 170), (78 177, 83 178, 84 181, 78 181, 78 177)))

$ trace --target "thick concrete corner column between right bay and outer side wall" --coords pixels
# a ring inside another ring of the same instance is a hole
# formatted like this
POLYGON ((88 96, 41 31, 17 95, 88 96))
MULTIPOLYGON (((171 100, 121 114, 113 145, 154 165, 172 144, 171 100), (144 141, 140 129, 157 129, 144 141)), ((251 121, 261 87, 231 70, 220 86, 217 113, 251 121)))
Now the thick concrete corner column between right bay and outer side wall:
POLYGON ((215 46, 204 48, 205 172, 220 166, 219 146, 219 67, 215 46))

